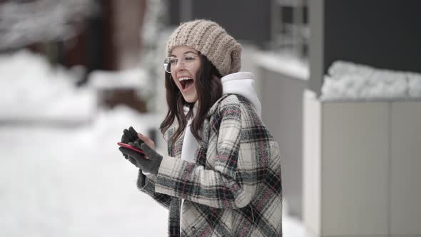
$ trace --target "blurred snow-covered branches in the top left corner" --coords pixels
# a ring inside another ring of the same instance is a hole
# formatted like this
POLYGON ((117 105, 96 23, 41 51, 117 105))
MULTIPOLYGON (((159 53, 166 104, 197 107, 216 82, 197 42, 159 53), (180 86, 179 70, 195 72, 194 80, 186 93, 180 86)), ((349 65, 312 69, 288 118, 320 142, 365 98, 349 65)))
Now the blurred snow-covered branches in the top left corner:
POLYGON ((78 33, 77 23, 96 12, 93 0, 0 3, 0 49, 70 39, 78 33))

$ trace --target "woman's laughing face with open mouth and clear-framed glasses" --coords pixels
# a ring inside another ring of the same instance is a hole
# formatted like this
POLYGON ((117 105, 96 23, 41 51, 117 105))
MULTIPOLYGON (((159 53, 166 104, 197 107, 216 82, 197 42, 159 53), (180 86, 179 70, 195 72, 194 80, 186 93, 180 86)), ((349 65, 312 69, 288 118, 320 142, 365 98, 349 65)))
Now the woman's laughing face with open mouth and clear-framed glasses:
POLYGON ((171 51, 170 58, 171 60, 178 58, 178 62, 173 61, 171 64, 171 76, 174 82, 183 94, 184 100, 195 103, 198 100, 196 76, 201 68, 201 57, 198 51, 188 46, 176 46, 171 51))

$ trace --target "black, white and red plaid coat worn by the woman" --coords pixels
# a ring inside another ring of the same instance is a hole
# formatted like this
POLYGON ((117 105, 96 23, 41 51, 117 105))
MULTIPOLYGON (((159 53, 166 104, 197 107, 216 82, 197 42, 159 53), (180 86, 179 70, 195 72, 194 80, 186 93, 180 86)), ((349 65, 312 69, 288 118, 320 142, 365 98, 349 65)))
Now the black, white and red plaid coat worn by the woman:
POLYGON ((169 209, 169 236, 282 236, 278 143, 246 99, 224 95, 211 107, 196 163, 181 159, 182 147, 183 136, 168 143, 156 178, 138 177, 138 188, 169 209))

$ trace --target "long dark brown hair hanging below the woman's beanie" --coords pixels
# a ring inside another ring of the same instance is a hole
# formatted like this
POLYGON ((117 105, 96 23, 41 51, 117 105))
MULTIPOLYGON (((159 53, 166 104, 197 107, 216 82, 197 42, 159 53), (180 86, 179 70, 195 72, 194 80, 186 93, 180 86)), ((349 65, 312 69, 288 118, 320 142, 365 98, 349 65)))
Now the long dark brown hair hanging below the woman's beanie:
MULTIPOLYGON (((222 84, 220 82, 222 76, 220 76, 218 69, 204 55, 201 55, 201 62, 202 64, 195 81, 199 101, 198 111, 191 123, 191 133, 199 141, 202 141, 200 132, 208 110, 222 96, 222 84)), ((177 119, 178 128, 173 136, 169 138, 169 142, 174 143, 186 128, 188 119, 193 116, 194 103, 188 103, 184 100, 183 94, 181 94, 181 91, 173 81, 173 77, 168 72, 165 73, 165 85, 168 112, 161 123, 160 129, 161 133, 165 133, 173 124, 174 119, 177 119), (184 114, 183 106, 190 108, 186 115, 184 114)))

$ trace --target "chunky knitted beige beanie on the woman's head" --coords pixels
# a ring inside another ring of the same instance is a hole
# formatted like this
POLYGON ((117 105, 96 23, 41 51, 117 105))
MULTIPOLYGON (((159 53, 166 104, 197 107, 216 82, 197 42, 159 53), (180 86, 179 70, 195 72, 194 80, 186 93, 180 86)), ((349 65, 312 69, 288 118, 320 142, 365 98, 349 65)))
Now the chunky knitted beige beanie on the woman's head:
POLYGON ((181 24, 168 39, 168 56, 175 46, 190 46, 201 52, 221 76, 240 71, 241 45, 213 21, 200 19, 181 24))

